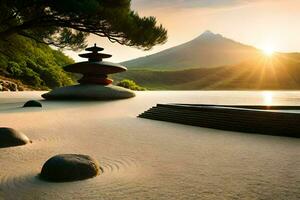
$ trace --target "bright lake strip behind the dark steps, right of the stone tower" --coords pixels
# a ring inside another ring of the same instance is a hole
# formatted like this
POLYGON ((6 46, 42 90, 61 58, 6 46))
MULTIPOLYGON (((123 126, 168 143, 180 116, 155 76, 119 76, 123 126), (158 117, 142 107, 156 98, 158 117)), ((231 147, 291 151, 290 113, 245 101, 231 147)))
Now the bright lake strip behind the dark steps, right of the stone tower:
POLYGON ((300 91, 151 91, 149 96, 165 93, 158 103, 195 103, 217 105, 288 105, 300 106, 300 91), (183 99, 182 97, 189 97, 183 99), (181 97, 181 98, 180 98, 181 97))

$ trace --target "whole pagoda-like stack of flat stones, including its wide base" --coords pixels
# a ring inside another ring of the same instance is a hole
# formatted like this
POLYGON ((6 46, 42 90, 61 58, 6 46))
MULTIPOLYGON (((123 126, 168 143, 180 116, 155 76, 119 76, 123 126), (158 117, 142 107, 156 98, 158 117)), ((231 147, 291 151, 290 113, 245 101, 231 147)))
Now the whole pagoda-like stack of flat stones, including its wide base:
POLYGON ((95 44, 86 49, 90 53, 79 55, 82 58, 88 58, 88 61, 64 67, 67 72, 83 75, 78 85, 56 88, 43 94, 42 97, 48 100, 110 100, 134 97, 133 91, 111 84, 113 80, 109 79, 108 75, 124 72, 127 68, 120 64, 103 61, 111 57, 109 54, 99 53, 103 50, 95 44))

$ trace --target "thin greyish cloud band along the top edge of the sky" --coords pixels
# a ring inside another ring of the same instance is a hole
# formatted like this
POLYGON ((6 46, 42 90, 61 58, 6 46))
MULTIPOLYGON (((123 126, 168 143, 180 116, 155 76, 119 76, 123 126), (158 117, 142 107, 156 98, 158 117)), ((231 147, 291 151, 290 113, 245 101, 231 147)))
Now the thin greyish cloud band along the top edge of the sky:
POLYGON ((133 0, 133 5, 143 8, 214 8, 228 7, 244 3, 252 3, 261 0, 133 0))

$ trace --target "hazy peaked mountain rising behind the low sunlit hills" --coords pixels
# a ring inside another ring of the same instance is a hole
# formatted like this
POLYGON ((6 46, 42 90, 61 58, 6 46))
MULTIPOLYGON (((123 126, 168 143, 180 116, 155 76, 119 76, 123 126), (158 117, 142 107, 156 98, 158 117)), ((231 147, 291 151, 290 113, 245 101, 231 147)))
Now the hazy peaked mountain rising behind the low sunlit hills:
POLYGON ((254 47, 206 31, 199 37, 155 53, 123 62, 129 69, 182 70, 233 65, 260 54, 254 47))

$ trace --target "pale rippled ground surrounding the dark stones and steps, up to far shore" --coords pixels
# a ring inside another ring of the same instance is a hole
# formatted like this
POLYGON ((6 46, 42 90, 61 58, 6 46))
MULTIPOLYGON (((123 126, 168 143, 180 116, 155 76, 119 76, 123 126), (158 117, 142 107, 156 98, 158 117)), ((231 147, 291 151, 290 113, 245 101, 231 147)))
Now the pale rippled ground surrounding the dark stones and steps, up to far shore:
POLYGON ((32 141, 0 149, 0 199, 300 199, 300 139, 221 131, 136 116, 157 103, 300 104, 299 92, 137 92, 118 101, 42 101, 0 93, 1 126, 32 141), (48 183, 56 154, 96 158, 104 173, 48 183))

